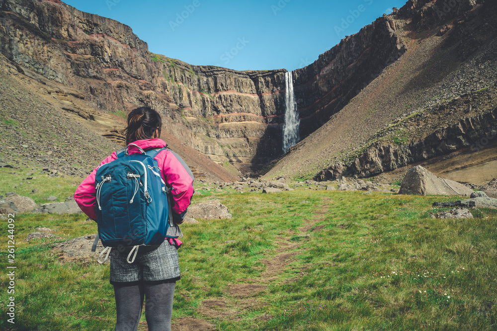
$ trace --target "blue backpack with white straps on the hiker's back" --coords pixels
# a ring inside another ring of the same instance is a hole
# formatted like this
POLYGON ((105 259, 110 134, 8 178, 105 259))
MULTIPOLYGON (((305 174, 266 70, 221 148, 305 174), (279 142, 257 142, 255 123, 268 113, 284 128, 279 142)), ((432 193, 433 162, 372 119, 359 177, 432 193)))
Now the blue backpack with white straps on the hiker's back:
POLYGON ((131 143, 117 152, 117 159, 102 165, 95 175, 96 222, 98 239, 105 249, 98 256, 104 263, 111 248, 120 251, 131 248, 128 263, 133 263, 139 248, 159 247, 168 238, 181 238, 181 230, 172 221, 169 201, 171 187, 162 176, 155 156, 163 149, 152 149, 140 154, 128 154, 131 143), (107 255, 103 261, 100 257, 107 255), (130 260, 134 252, 133 258, 130 260))

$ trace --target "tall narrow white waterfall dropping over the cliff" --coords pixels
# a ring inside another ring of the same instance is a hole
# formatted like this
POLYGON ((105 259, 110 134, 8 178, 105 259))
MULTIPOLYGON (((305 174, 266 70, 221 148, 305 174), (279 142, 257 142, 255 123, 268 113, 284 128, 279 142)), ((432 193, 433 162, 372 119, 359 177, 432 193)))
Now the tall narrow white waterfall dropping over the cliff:
POLYGON ((283 153, 288 152, 290 147, 300 140, 300 120, 297 115, 297 103, 293 93, 292 72, 285 73, 285 124, 283 125, 283 153))

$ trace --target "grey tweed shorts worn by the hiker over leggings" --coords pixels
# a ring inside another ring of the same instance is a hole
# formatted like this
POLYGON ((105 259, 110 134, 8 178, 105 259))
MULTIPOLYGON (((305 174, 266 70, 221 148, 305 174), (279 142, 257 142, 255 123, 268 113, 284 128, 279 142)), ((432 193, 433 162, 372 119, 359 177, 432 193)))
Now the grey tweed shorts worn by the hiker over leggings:
POLYGON ((179 260, 176 248, 167 240, 149 252, 140 252, 133 263, 128 263, 128 251, 116 249, 110 254, 110 283, 133 285, 140 282, 166 282, 179 279, 179 260))

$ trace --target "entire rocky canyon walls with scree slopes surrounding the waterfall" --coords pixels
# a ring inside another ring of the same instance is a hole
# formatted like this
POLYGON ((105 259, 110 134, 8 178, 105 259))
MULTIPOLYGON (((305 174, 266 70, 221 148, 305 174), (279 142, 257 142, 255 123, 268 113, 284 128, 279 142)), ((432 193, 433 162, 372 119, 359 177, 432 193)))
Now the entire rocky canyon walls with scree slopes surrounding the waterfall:
MULTIPOLYGON (((4 89, 0 125, 12 145, 19 129, 12 123, 28 130, 53 120, 53 108, 78 124, 72 130, 109 138, 112 149, 123 143, 126 112, 150 106, 167 123, 163 138, 200 176, 228 181, 272 162, 267 177, 368 177, 467 147, 488 132, 493 103, 478 107, 475 93, 492 99, 494 91, 494 2, 409 0, 295 70, 302 141, 282 155, 287 70, 192 66, 149 52, 124 24, 59 0, 0 0, 5 77, 15 77, 12 91, 28 86, 39 100, 9 113, 9 100, 19 100, 4 89), (31 104, 41 110, 24 123, 31 104)), ((43 151, 36 155, 45 160, 43 151)))

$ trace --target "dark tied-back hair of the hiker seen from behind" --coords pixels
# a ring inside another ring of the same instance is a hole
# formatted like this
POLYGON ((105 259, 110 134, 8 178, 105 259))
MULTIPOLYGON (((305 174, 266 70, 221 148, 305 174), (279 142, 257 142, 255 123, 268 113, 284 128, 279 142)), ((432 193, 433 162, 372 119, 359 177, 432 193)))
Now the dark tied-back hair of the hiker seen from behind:
POLYGON ((162 119, 158 112, 150 107, 133 109, 128 115, 126 145, 136 140, 159 138, 161 128, 162 119), (154 136, 156 130, 159 130, 159 136, 154 136))

